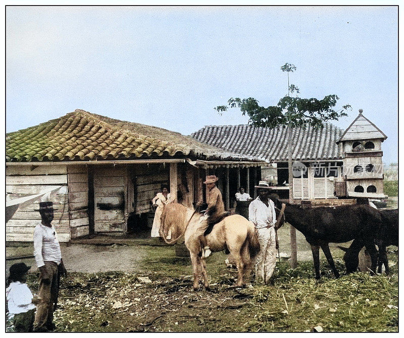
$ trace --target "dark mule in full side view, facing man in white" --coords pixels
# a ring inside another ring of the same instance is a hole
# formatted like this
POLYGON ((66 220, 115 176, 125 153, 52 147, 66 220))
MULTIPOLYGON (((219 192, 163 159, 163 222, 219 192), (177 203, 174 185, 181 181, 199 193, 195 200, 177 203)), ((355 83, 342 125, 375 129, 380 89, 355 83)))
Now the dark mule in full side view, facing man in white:
MULTIPOLYGON (((277 208, 280 205, 277 200, 277 208)), ((352 239, 360 239, 364 243, 371 255, 372 269, 376 270, 375 238, 382 222, 377 210, 367 205, 302 208, 300 205, 286 204, 284 215, 286 222, 305 235, 311 245, 317 280, 321 278, 320 247, 335 278, 339 278, 329 243, 344 243, 352 239)))

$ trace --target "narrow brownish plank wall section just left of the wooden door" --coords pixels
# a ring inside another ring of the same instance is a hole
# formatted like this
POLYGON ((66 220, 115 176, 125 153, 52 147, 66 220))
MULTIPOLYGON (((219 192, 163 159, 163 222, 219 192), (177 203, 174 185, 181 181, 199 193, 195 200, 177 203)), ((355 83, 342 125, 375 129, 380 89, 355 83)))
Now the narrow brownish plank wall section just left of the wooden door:
POLYGON ((86 165, 67 167, 69 186, 70 236, 89 234, 88 225, 88 172, 86 165))

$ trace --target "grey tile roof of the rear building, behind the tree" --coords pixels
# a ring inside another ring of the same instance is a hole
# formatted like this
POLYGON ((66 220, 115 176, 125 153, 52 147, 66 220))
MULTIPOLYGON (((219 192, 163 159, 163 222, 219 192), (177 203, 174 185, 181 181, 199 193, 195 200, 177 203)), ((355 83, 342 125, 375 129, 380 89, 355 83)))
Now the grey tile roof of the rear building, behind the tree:
MULTIPOLYGON (((343 129, 324 123, 323 129, 294 128, 292 131, 293 160, 340 160, 342 146, 336 141, 343 129)), ((287 161, 287 129, 240 125, 208 125, 191 134, 195 140, 267 161, 287 161)))

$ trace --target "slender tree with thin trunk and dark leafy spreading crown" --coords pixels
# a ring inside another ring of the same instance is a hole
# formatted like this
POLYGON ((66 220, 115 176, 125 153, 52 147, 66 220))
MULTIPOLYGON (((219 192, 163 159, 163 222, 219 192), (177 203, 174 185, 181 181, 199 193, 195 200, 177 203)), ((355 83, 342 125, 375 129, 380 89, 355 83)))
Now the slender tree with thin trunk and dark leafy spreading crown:
MULTIPOLYGON (((289 167, 289 201, 293 203, 293 174, 292 174, 292 129, 294 127, 306 128, 313 126, 315 129, 323 128, 323 122, 328 120, 338 120, 342 116, 347 116, 345 111, 350 109, 350 105, 344 105, 335 110, 334 107, 339 100, 338 96, 327 95, 322 100, 316 98, 304 99, 297 96, 299 89, 289 84, 289 73, 296 71, 296 66, 285 63, 281 67, 282 72, 287 73, 287 95, 281 98, 276 106, 263 107, 255 98, 248 99, 230 98, 228 105, 217 106, 215 109, 221 114, 228 108, 239 107, 243 115, 249 117, 248 123, 256 127, 287 127, 288 133, 288 167, 289 167), (291 96, 290 94, 294 94, 291 96)), ((296 232, 293 227, 290 229, 291 244, 291 266, 297 266, 296 252, 296 232)))

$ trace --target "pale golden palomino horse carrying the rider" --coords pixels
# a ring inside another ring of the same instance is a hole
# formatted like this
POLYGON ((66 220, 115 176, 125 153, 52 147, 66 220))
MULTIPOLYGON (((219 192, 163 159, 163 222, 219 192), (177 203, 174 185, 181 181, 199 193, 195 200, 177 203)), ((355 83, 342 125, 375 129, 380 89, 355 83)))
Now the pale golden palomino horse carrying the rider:
MULTIPOLYGON (((202 222, 207 222, 206 220, 202 222)), ((189 250, 193 271, 193 289, 199 289, 199 269, 204 279, 205 288, 209 288, 206 261, 201 257, 199 235, 204 233, 204 224, 199 223, 199 214, 181 204, 170 203, 164 207, 161 216, 160 235, 167 237, 172 231, 174 243, 184 236, 185 245, 189 250)), ((206 228, 206 227, 205 227, 206 228)), ((254 231, 254 224, 240 215, 225 217, 215 224, 210 234, 206 235, 207 243, 212 252, 228 249, 238 269, 237 286, 242 286, 244 278, 248 279, 252 260, 260 251, 260 243, 254 231)))

